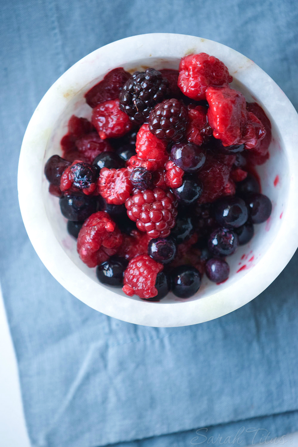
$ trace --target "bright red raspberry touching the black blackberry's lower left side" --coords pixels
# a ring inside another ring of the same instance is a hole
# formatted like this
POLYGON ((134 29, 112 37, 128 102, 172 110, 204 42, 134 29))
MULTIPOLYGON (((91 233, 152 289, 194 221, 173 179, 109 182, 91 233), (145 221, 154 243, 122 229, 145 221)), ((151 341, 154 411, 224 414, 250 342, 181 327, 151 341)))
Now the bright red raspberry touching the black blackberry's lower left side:
POLYGON ((91 121, 101 139, 122 137, 132 129, 128 116, 119 109, 118 99, 94 107, 91 121))

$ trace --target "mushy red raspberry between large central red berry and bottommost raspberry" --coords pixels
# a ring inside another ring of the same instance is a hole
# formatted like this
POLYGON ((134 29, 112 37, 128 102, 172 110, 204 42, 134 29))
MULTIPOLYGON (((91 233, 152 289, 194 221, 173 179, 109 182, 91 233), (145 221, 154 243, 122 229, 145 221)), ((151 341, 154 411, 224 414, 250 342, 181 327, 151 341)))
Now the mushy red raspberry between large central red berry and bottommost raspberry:
POLYGON ((139 254, 148 253, 148 243, 151 239, 147 233, 139 230, 132 230, 130 234, 122 234, 122 245, 118 249, 118 256, 125 257, 125 259, 132 259, 139 254))

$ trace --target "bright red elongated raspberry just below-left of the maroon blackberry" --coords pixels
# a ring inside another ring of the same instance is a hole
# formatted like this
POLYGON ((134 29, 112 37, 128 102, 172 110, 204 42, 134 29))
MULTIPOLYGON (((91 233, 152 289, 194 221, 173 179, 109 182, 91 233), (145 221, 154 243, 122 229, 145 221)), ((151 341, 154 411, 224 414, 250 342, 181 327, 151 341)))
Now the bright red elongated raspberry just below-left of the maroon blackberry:
POLYGON ((168 160, 166 148, 167 143, 153 135, 149 130, 148 124, 143 124, 140 127, 135 143, 135 150, 139 158, 142 160, 154 160, 157 167, 161 168, 168 160))

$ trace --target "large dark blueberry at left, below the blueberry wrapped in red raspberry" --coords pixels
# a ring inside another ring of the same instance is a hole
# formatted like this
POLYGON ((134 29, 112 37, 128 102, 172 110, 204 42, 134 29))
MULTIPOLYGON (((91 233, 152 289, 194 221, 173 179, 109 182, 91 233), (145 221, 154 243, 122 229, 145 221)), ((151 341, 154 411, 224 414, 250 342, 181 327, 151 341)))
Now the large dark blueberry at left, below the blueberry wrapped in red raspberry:
POLYGON ((82 221, 97 211, 95 197, 65 192, 59 199, 61 212, 66 219, 82 221))

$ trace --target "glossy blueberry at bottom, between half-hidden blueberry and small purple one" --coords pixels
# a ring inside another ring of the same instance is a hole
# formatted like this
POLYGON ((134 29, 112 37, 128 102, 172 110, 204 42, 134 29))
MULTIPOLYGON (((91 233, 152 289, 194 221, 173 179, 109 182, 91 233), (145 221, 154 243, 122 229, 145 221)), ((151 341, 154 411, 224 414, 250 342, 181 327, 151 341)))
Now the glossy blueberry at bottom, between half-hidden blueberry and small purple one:
POLYGON ((189 298, 201 286, 201 274, 193 266, 183 265, 172 270, 172 292, 179 298, 189 298))

